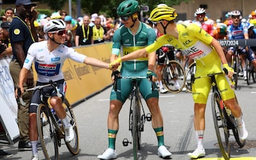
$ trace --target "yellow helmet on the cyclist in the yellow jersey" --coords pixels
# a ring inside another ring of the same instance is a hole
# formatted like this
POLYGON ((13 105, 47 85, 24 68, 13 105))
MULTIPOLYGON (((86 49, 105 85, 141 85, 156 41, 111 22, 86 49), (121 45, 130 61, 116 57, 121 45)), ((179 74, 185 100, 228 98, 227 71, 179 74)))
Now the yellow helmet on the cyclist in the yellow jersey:
POLYGON ((161 5, 153 9, 150 13, 149 19, 152 23, 159 22, 161 20, 175 20, 177 17, 176 9, 161 5))

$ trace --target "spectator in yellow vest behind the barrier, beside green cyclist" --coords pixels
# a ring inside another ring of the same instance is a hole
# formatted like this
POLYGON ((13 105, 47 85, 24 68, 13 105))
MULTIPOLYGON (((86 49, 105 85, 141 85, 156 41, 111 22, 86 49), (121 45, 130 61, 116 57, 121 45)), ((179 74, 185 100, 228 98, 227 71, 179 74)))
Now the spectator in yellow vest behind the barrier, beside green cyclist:
POLYGON ((105 39, 109 38, 107 30, 101 25, 101 18, 95 18, 95 25, 92 28, 94 44, 105 42, 105 39))

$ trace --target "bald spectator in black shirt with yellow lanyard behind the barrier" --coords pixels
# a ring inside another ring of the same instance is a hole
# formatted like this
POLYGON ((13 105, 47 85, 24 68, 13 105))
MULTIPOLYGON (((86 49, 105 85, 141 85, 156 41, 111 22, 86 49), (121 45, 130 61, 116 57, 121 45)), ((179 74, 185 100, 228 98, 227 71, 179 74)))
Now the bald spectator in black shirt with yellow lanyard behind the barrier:
POLYGON ((79 45, 91 45, 94 44, 94 39, 92 37, 92 27, 89 26, 90 18, 88 15, 83 16, 83 24, 78 26, 75 33, 75 46, 79 45))

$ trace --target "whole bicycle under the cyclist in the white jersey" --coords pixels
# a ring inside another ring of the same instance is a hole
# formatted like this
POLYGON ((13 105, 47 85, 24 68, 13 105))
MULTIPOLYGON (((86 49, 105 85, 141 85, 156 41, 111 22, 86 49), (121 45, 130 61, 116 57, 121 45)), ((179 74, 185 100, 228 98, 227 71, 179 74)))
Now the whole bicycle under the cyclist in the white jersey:
MULTIPOLYGON (((43 90, 45 87, 53 87, 57 93, 57 96, 62 96, 59 94, 56 84, 51 80, 49 84, 37 85, 34 88, 26 89, 26 91, 34 91, 38 89, 40 92, 42 104, 39 104, 37 107, 37 130, 39 142, 41 142, 45 159, 59 159, 59 147, 61 147, 61 139, 65 138, 64 127, 53 108, 50 107, 50 104, 48 104, 48 98, 50 95, 45 93, 43 90)), ((20 88, 18 88, 18 95, 19 97, 21 95, 20 88)), ((21 97, 19 100, 21 104, 24 103, 21 97)), ((75 132, 74 140, 71 142, 65 142, 65 144, 72 155, 77 155, 79 153, 79 139, 75 114, 72 111, 72 106, 69 104, 66 98, 64 98, 63 105, 67 113, 67 118, 69 118, 69 122, 73 126, 75 132)))

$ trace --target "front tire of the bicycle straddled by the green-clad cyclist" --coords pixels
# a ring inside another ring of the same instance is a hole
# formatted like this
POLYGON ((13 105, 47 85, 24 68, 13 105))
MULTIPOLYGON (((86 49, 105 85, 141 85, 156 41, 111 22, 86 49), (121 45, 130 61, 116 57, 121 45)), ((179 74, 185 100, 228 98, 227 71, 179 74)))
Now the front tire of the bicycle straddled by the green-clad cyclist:
POLYGON ((139 99, 137 96, 132 98, 132 145, 133 145, 133 159, 138 159, 138 146, 139 146, 139 118, 138 106, 139 99))

